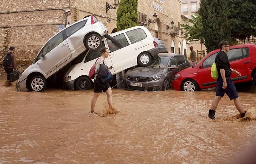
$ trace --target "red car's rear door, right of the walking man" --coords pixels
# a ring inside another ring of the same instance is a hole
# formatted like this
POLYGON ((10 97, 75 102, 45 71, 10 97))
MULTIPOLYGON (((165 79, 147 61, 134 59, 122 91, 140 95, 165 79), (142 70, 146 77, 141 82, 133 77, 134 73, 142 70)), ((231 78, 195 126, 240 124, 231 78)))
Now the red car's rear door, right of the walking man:
POLYGON ((251 65, 251 56, 249 56, 249 48, 237 48, 231 49, 227 53, 229 58, 230 67, 241 73, 241 77, 238 77, 235 73, 232 73, 230 78, 235 78, 233 81, 247 79, 248 68, 251 65))

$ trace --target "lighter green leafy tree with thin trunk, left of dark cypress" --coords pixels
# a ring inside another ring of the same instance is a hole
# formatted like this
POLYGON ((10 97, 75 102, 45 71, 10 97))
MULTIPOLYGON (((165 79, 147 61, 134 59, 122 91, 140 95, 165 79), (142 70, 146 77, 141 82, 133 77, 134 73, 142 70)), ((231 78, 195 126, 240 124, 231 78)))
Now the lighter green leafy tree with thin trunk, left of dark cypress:
POLYGON ((181 30, 185 30, 184 37, 190 42, 200 41, 201 50, 202 44, 204 44, 204 27, 202 24, 202 17, 199 14, 192 15, 191 19, 188 19, 189 23, 182 24, 181 30))

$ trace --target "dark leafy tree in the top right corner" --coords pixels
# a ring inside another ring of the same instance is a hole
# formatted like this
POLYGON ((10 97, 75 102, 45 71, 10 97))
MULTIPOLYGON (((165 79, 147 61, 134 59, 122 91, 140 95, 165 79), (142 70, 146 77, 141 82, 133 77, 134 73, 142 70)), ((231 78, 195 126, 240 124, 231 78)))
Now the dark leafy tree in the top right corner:
POLYGON ((237 39, 246 39, 256 36, 256 1, 255 0, 228 0, 231 25, 231 36, 237 39))

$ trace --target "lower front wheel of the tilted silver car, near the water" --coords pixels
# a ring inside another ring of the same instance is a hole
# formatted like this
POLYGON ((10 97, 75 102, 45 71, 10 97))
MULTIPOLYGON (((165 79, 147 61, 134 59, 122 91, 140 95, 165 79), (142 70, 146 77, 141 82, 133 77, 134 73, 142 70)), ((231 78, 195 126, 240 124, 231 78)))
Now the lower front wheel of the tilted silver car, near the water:
POLYGON ((42 76, 34 76, 29 83, 30 90, 41 92, 46 87, 46 80, 42 76))

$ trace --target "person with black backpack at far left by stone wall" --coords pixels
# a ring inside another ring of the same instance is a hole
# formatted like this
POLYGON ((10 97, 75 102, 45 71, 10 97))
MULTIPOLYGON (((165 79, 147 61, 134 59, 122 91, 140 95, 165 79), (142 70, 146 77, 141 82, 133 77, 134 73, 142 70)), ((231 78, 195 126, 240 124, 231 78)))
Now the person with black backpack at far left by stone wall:
POLYGON ((14 51, 15 51, 15 47, 11 46, 9 48, 9 51, 4 56, 3 66, 4 66, 4 71, 7 73, 7 80, 4 82, 4 86, 11 85, 10 73, 16 70, 16 56, 14 51))

